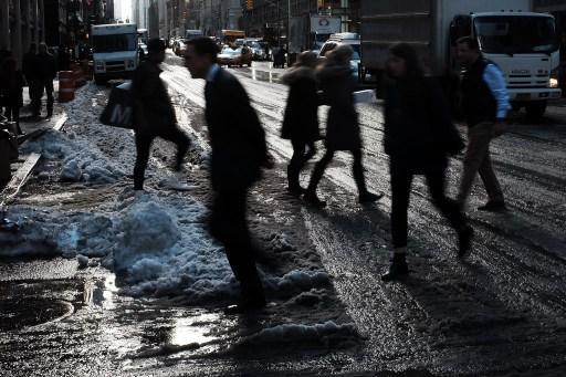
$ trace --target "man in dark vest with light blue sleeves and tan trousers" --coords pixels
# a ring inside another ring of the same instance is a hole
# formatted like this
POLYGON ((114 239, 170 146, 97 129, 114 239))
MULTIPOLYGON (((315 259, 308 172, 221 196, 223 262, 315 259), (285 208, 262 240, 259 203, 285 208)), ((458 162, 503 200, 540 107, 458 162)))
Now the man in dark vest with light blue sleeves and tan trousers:
POLYGON ((478 172, 482 178, 489 201, 479 207, 484 211, 505 210, 503 191, 491 164, 490 143, 501 135, 503 121, 511 109, 503 74, 495 63, 482 57, 475 38, 458 40, 458 57, 467 69, 462 78, 462 105, 468 124, 468 149, 463 163, 458 202, 465 202, 478 172))

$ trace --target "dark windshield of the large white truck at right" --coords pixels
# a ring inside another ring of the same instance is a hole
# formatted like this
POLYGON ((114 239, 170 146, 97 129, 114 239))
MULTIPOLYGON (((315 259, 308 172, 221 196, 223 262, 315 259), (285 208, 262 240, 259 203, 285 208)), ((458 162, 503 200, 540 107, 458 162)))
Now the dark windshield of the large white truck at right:
POLYGON ((482 52, 524 54, 558 50, 555 22, 551 17, 478 17, 474 28, 482 52))

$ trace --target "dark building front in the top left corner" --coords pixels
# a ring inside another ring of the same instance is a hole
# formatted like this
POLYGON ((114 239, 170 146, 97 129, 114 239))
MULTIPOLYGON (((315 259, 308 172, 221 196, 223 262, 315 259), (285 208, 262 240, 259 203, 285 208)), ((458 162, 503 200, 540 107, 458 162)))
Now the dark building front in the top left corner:
POLYGON ((45 41, 43 0, 0 1, 0 50, 9 50, 21 66, 31 43, 45 41))

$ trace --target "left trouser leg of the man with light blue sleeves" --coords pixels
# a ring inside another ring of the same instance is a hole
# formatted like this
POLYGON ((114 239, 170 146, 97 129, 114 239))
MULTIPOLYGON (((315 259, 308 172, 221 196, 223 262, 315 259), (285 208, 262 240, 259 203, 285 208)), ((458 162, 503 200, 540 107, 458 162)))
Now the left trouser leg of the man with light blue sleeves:
POLYGON ((490 150, 493 123, 479 123, 468 129, 468 149, 463 161, 458 202, 464 206, 480 166, 490 150))

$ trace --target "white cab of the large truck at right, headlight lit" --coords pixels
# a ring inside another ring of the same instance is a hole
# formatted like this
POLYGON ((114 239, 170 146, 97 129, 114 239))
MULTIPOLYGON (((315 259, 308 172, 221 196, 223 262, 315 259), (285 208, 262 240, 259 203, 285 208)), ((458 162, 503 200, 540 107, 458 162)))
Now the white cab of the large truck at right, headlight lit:
POLYGON ((497 64, 514 109, 543 116, 548 100, 562 96, 558 88, 559 43, 554 17, 532 12, 482 12, 457 15, 451 23, 452 46, 458 38, 478 38, 485 59, 497 64))

